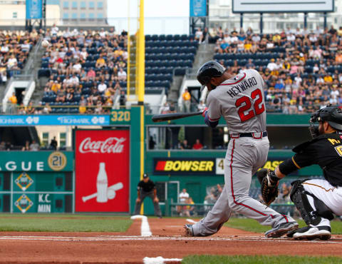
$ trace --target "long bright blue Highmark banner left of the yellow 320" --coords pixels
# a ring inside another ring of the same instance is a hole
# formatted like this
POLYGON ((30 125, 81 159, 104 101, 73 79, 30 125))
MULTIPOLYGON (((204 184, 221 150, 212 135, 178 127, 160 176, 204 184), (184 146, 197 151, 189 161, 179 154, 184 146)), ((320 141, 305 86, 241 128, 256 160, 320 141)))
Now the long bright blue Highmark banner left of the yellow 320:
POLYGON ((0 126, 108 126, 109 115, 0 115, 0 126))

